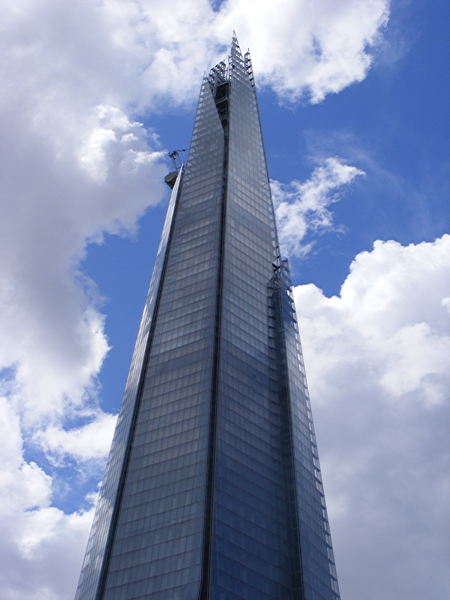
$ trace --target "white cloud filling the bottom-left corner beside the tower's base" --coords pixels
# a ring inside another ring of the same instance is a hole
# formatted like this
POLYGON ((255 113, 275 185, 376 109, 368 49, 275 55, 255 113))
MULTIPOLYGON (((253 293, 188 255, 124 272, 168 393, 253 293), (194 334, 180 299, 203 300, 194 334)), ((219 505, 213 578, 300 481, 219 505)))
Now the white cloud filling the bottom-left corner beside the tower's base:
POLYGON ((81 567, 92 510, 65 514, 51 506, 52 478, 35 462, 24 460, 16 410, 7 398, 0 400, 1 596, 68 598, 81 567))

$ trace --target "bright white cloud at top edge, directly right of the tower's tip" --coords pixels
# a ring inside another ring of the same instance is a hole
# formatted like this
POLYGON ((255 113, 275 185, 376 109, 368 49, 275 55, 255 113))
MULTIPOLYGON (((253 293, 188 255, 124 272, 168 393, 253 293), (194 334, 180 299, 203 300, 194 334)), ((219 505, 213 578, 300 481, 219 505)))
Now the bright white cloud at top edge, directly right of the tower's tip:
POLYGON ((385 0, 230 0, 218 20, 252 51, 256 78, 281 97, 320 102, 361 81, 389 17, 385 0))

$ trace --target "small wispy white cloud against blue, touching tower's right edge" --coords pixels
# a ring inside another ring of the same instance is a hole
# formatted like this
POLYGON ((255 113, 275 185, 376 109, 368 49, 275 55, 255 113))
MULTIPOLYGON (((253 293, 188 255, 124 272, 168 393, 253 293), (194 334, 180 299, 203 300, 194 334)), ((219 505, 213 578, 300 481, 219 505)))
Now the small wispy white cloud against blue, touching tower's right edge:
POLYGON ((346 165, 340 158, 330 157, 316 167, 304 183, 296 179, 289 184, 271 182, 278 235, 284 252, 302 256, 312 247, 311 243, 304 242, 308 232, 333 228, 328 206, 341 199, 343 189, 358 175, 364 175, 364 171, 346 165))

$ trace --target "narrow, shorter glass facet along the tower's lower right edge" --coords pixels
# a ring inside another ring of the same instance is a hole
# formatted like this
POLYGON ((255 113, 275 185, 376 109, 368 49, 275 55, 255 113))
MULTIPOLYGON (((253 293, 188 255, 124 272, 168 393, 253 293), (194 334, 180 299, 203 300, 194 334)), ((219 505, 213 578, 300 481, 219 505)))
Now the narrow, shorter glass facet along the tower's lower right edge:
POLYGON ((302 592, 306 600, 339 600, 311 403, 286 260, 282 261, 276 279, 276 309, 282 339, 279 362, 288 400, 302 592))

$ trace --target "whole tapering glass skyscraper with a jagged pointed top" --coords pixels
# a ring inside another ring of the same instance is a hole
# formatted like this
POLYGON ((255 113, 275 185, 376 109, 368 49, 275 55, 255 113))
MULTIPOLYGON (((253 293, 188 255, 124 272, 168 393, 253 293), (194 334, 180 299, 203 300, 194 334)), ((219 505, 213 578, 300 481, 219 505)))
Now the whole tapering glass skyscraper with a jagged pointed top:
POLYGON ((338 600, 249 53, 203 81, 77 600, 338 600))

